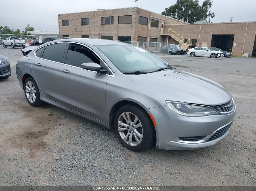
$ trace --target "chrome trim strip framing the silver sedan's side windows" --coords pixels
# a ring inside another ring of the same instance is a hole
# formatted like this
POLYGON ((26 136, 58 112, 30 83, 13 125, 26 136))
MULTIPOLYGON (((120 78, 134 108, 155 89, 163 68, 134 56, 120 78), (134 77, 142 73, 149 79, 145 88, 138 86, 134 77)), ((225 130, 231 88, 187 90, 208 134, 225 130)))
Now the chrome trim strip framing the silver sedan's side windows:
POLYGON ((74 68, 79 68, 79 69, 86 70, 86 71, 89 71, 89 72, 99 73, 99 74, 101 74, 101 75, 106 75, 106 76, 110 76, 110 77, 115 77, 115 73, 111 70, 111 68, 107 65, 107 63, 106 63, 93 49, 91 49, 89 46, 87 46, 87 45, 85 45, 85 44, 82 44, 82 43, 76 43, 76 42, 71 42, 71 41, 65 41, 65 42, 55 42, 55 43, 46 44, 46 45, 44 45, 44 46, 40 46, 40 47, 34 49, 34 56, 35 56, 36 58, 38 58, 38 59, 47 60, 47 61, 55 62, 55 63, 58 63, 58 64, 71 66, 71 67, 74 67, 74 68), (87 70, 87 69, 83 69, 83 68, 81 68, 81 67, 72 66, 72 65, 69 65, 69 64, 64 64, 64 63, 61 63, 61 62, 56 62, 56 61, 53 61, 53 60, 48 60, 48 59, 44 59, 44 58, 40 58, 40 57, 37 57, 37 56, 36 56, 35 52, 36 52, 38 49, 43 48, 43 47, 48 46, 48 45, 57 44, 57 43, 74 43, 74 44, 79 44, 79 45, 85 46, 86 48, 90 49, 96 56, 98 56, 99 59, 101 59, 101 61, 105 64, 105 66, 110 70, 110 72, 112 73, 112 75, 109 75, 109 74, 101 74, 101 73, 96 72, 96 71, 87 70))

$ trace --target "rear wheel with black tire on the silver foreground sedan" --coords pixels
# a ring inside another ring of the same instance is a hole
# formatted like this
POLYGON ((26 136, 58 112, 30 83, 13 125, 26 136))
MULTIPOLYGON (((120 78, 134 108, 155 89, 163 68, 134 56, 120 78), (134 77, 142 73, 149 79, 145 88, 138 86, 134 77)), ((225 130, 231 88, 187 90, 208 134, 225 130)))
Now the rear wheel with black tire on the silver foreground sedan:
POLYGON ((45 103, 39 99, 40 97, 39 89, 35 80, 32 77, 28 77, 25 80, 24 92, 25 92, 25 97, 30 105, 34 107, 38 107, 45 103))

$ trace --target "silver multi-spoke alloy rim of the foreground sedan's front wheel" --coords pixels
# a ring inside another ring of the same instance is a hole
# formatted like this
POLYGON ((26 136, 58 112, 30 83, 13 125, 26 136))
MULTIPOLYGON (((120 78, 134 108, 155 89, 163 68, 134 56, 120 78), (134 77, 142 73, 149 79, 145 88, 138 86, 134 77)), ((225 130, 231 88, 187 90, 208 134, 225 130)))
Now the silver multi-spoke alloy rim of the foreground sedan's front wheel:
POLYGON ((143 128, 140 120, 131 112, 123 112, 118 118, 118 132, 123 141, 131 146, 137 146, 143 138, 143 128))

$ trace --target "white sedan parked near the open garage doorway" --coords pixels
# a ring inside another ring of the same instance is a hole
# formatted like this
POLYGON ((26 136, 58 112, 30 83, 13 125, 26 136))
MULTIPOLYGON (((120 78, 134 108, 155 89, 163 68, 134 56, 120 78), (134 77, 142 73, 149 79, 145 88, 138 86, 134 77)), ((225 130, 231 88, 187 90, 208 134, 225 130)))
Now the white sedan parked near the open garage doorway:
POLYGON ((190 56, 206 56, 211 58, 224 57, 223 52, 212 50, 210 48, 205 48, 205 47, 195 47, 195 48, 188 49, 188 54, 190 54, 190 56))

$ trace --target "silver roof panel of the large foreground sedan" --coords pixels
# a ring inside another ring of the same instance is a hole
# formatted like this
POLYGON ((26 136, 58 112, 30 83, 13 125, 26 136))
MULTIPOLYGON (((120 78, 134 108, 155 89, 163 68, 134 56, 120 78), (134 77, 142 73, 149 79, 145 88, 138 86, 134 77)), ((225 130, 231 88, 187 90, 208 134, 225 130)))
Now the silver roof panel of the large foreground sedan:
POLYGON ((93 39, 93 38, 68 38, 68 39, 61 39, 61 40, 53 40, 48 43, 45 43, 44 45, 51 44, 51 43, 57 43, 57 42, 74 42, 74 43, 81 43, 86 45, 130 45, 128 43, 118 42, 114 40, 105 40, 105 39, 93 39))

